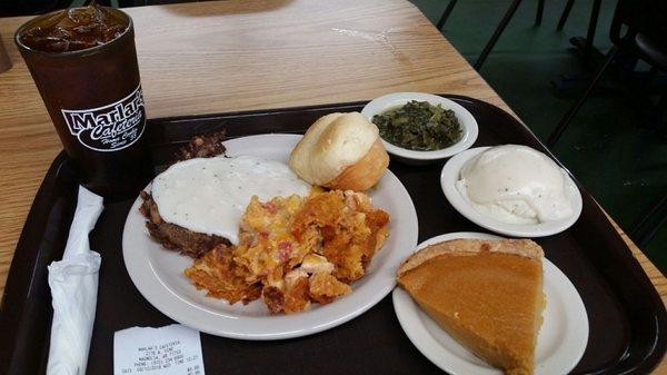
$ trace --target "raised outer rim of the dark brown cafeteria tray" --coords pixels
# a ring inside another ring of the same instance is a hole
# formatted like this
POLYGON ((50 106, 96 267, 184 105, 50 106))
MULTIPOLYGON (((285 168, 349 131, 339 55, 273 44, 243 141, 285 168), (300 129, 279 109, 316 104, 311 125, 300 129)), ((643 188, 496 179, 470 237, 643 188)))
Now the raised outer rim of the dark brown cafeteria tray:
MULTIPOLYGON (((639 282, 640 284, 644 284, 643 287, 645 287, 645 286, 649 287, 649 290, 647 289, 647 297, 649 298, 650 303, 654 306, 658 307, 658 310, 661 310, 663 323, 667 323, 667 313, 666 313, 665 304, 663 303, 654 284, 650 282, 647 273, 644 270, 644 268, 639 264, 638 259, 635 258, 635 256, 634 256, 631 249, 629 248, 629 246, 627 245, 627 243, 623 239, 623 237, 620 236, 618 230, 616 230, 616 228, 611 225, 610 217, 606 215, 606 211, 598 204, 598 201, 595 199, 595 197, 593 197, 581 186, 581 184, 577 180, 577 178, 571 175, 569 169, 567 169, 567 167, 565 167, 560 162, 560 160, 558 160, 558 158, 551 152, 551 150, 549 150, 545 146, 545 144, 535 135, 535 132, 529 127, 527 127, 517 117, 507 112, 505 109, 499 108, 492 103, 486 102, 484 100, 471 98, 471 97, 466 97, 466 96, 460 96, 460 95, 452 95, 452 93, 437 93, 437 95, 444 96, 444 97, 447 97, 450 99, 459 100, 459 101, 467 101, 467 102, 476 103, 476 105, 481 103, 484 106, 494 107, 499 112, 499 115, 501 115, 506 118, 509 118, 510 121, 520 124, 521 127, 530 134, 530 136, 532 137, 532 140, 536 141, 540 146, 539 150, 541 152, 545 152, 546 155, 550 156, 560 167, 563 167, 570 175, 570 177, 573 178, 573 180, 575 181, 577 187, 580 189, 583 197, 585 199, 586 198, 591 199, 591 201, 597 206, 597 209, 599 209, 599 211, 605 216, 606 229, 608 229, 610 233, 613 233, 611 236, 615 237, 616 241, 621 244, 621 246, 625 248, 625 250, 619 253, 618 255, 620 255, 624 258, 626 266, 630 270, 630 274, 631 274, 630 276, 635 277, 636 280, 639 282)), ((280 115, 280 114, 321 111, 321 110, 327 110, 327 109, 339 111, 339 110, 344 110, 344 109, 348 109, 348 108, 349 109, 359 108, 360 106, 367 103, 368 101, 369 100, 357 100, 357 101, 320 103, 320 105, 309 105, 309 106, 238 110, 238 111, 230 111, 230 112, 213 112, 213 114, 198 114, 198 115, 172 116, 172 117, 163 117, 163 118, 151 118, 151 119, 147 119, 147 126, 150 129, 157 125, 169 126, 169 125, 178 125, 179 122, 188 122, 188 121, 193 121, 193 120, 219 120, 221 117, 223 117, 226 119, 232 119, 232 118, 237 118, 237 117, 239 117, 239 118, 240 117, 263 117, 267 115, 275 116, 275 115, 280 115)), ((289 132, 289 131, 277 131, 277 132, 289 132)), ((230 137, 230 138, 236 138, 236 137, 230 137)), ((177 141, 177 142, 163 142, 162 141, 162 142, 156 142, 152 146, 153 147, 155 146, 168 146, 168 145, 176 145, 176 144, 182 144, 182 141, 177 141)), ((39 223, 46 221, 46 219, 43 217, 40 217, 38 215, 38 209, 36 207, 39 207, 41 205, 52 206, 52 203, 46 200, 46 197, 50 194, 53 194, 54 179, 52 179, 52 178, 58 176, 60 168, 62 168, 62 166, 67 162, 67 160, 68 159, 67 159, 67 156, 64 155, 64 151, 61 151, 51 162, 51 166, 49 167, 47 174, 44 175, 44 179, 42 180, 40 188, 38 189, 36 197, 33 198, 30 211, 26 218, 26 221, 23 223, 23 227, 21 229, 19 240, 17 241, 14 255, 12 257, 8 277, 7 277, 4 293, 2 295, 2 299, 0 300, 0 330, 6 333, 7 332, 6 329, 10 329, 10 333, 13 334, 13 337, 11 337, 12 341, 9 344, 14 344, 16 336, 20 330, 19 325, 12 325, 13 322, 9 322, 9 318, 17 317, 17 316, 19 318, 23 318, 24 314, 20 314, 20 313, 23 312, 24 303, 23 304, 19 303, 16 305, 12 304, 12 306, 9 306, 9 307, 7 306, 7 304, 8 304, 8 302, 13 303, 13 302, 20 302, 22 299, 26 299, 26 298, 22 298, 22 295, 26 295, 26 293, 19 294, 18 292, 20 292, 20 290, 29 292, 30 290, 29 284, 21 285, 19 283, 19 280, 16 279, 17 277, 21 276, 21 275, 17 276, 17 274, 21 274, 21 272, 14 270, 14 268, 16 268, 14 261, 19 261, 17 259, 29 258, 29 260, 31 260, 31 263, 30 263, 31 266, 34 266, 34 260, 37 258, 37 255, 39 254, 39 249, 37 248, 38 246, 32 246, 32 253, 31 253, 30 251, 31 246, 28 246, 27 243, 28 244, 39 243, 39 240, 40 239, 29 238, 30 230, 29 230, 28 224, 33 223, 33 221, 39 221, 39 223), (34 256, 32 256, 33 253, 34 253, 34 256), (19 255, 19 256, 17 256, 17 255, 19 255), (18 284, 19 286, 13 286, 13 284, 18 284), (17 308, 16 308, 17 305, 20 305, 20 308, 18 308, 19 312, 17 312, 17 308), (8 313, 8 310, 10 313, 8 313)), ((76 201, 76 199, 74 199, 74 201, 76 201)), ((68 224, 68 227, 69 227, 69 224, 68 224)), ((32 274, 32 270, 30 274, 32 274)), ((22 275, 22 276, 26 276, 26 275, 22 275)), ((607 278, 605 277, 605 279, 607 279, 607 278)), ((2 345, 0 345, 0 348, 1 348, 0 349, 0 372, 2 372, 3 369, 9 371, 10 368, 14 367, 14 366, 11 366, 12 365, 11 359, 13 356, 14 348, 12 347, 10 349, 10 348, 4 347, 4 345, 8 344, 8 342, 9 342, 8 336, 11 336, 11 335, 0 336, 0 344, 2 344, 2 345), (6 366, 7 368, 3 368, 3 366, 6 366)), ((634 373, 634 372, 639 372, 639 373, 650 372, 663 361, 665 353, 667 352, 667 330, 661 329, 660 332, 656 333, 656 337, 657 337, 657 339, 651 347, 648 358, 645 357, 644 361, 640 362, 635 367, 623 368, 624 374, 625 373, 634 373), (654 353, 656 353, 656 351, 661 352, 661 354, 653 355, 654 353)), ((626 348, 626 355, 627 355, 628 349, 629 349, 629 345, 626 348)), ((608 364, 607 367, 599 368, 599 371, 600 372, 609 371, 610 369, 609 367, 614 367, 624 357, 625 357, 625 355, 621 356, 617 362, 608 364)), ((621 368, 617 368, 617 369, 621 371, 621 368)))

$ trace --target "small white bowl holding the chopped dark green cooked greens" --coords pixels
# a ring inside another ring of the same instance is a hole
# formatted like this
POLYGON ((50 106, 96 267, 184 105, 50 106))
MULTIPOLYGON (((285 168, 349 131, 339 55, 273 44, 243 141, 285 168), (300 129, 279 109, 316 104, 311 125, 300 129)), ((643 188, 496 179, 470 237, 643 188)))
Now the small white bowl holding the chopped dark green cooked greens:
POLYGON ((411 165, 425 165, 431 161, 448 158, 452 155, 464 151, 470 146, 472 146, 472 144, 475 144, 475 141, 477 140, 479 129, 477 127, 477 120, 475 120, 475 117, 472 117, 472 115, 466 108, 461 107, 456 101, 438 97, 437 95, 424 92, 389 93, 374 99, 368 105, 366 105, 366 107, 364 107, 364 109, 361 110, 361 115, 364 115, 369 121, 372 121, 374 116, 382 114, 388 109, 405 106, 410 100, 427 101, 431 106, 440 105, 444 109, 451 109, 456 115, 459 125, 461 126, 461 139, 449 147, 435 151, 410 150, 392 145, 382 139, 382 144, 385 145, 387 152, 395 156, 396 159, 411 165))

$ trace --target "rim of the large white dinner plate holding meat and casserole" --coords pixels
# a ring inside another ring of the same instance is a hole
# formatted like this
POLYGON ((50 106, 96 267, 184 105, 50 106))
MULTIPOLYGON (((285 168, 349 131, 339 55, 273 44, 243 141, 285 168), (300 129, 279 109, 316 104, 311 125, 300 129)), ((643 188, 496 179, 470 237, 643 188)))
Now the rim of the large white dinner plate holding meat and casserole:
MULTIPOLYGON (((248 136, 248 137, 239 137, 239 138, 228 139, 223 144, 237 142, 237 141, 248 141, 249 138, 250 138, 250 141, 260 141, 261 139, 266 139, 267 137, 269 137, 272 141, 276 140, 276 137, 279 137, 279 138, 282 138, 285 142, 287 142, 287 141, 296 142, 302 136, 301 135, 287 135, 287 134, 263 134, 263 135, 253 135, 253 136, 248 136)), ((270 144, 267 144, 267 145, 270 145, 270 144)), ((242 152, 238 152, 238 155, 242 155, 242 152)), ((387 172, 385 174, 382 179, 385 179, 385 178, 388 178, 388 179, 397 182, 398 185, 396 187, 399 189, 398 193, 401 196, 404 196, 405 198, 407 198, 407 199, 402 199, 402 203, 400 203, 401 213, 404 209, 408 210, 408 215, 405 215, 405 217, 407 217, 408 219, 406 219, 406 221, 404 223, 406 230, 404 230, 402 233, 405 233, 404 236, 407 236, 405 241, 410 244, 409 248, 414 248, 414 246, 416 246, 417 240, 418 240, 419 224, 418 224, 417 211, 416 211, 415 205, 412 203, 412 199, 411 199, 409 193, 407 191, 407 189, 405 188, 405 186, 402 185, 402 182, 400 182, 398 177, 396 177, 396 175, 394 175, 390 170, 387 170, 387 172)), ((149 184, 149 186, 150 186, 150 184, 149 184)), ((128 213, 128 216, 127 216, 125 225, 123 225, 123 233, 122 233, 123 263, 126 265, 126 269, 130 276, 130 279, 132 280, 132 284, 135 285, 135 287, 142 295, 142 297, 149 304, 151 304, 153 307, 156 307, 159 312, 161 312, 162 314, 167 315, 168 317, 170 317, 171 319, 173 319, 176 322, 179 322, 183 325, 187 325, 187 326, 198 329, 200 332, 205 332, 205 333, 216 335, 216 336, 237 338, 237 339, 248 339, 248 341, 275 341, 275 339, 286 339, 286 338, 293 338, 293 337, 311 335, 311 334, 316 334, 316 333, 336 327, 344 323, 347 323, 350 319, 364 314, 365 312, 370 309, 372 306, 378 304, 380 300, 382 300, 394 289, 394 287, 396 285, 396 279, 394 277, 394 283, 386 284, 381 287, 377 287, 377 290, 372 292, 371 298, 368 298, 366 302, 364 302, 361 304, 356 304, 355 308, 348 308, 345 312, 340 312, 340 313, 328 313, 331 316, 326 318, 325 319, 326 322, 318 322, 317 324, 309 324, 309 326, 299 327, 298 329, 278 328, 278 327, 285 326, 286 320, 289 322, 290 318, 293 319, 295 316, 298 317, 299 316, 298 314, 276 315, 276 316, 270 316, 270 317, 268 317, 268 316, 261 316, 261 317, 257 317, 257 316, 246 316, 246 317, 221 316, 220 314, 209 312, 208 308, 205 308, 205 307, 198 306, 198 305, 193 305, 188 299, 178 295, 175 290, 172 290, 170 287, 168 287, 168 285, 166 285, 163 282, 161 282, 160 276, 158 275, 158 273, 155 272, 150 261, 148 261, 149 260, 148 251, 145 253, 142 256, 131 254, 135 251, 129 250, 132 246, 127 244, 127 241, 129 241, 130 239, 126 237, 126 234, 132 233, 132 229, 137 230, 136 223, 135 223, 137 219, 139 219, 141 224, 145 223, 143 217, 141 217, 140 214, 138 214, 140 204, 141 204, 141 198, 137 197, 137 199, 132 204, 132 207, 130 208, 130 211, 128 213), (132 226, 133 228, 129 229, 129 226, 132 226), (140 264, 138 263, 140 260, 145 260, 146 265, 140 266, 140 264), (148 270, 149 268, 150 268, 150 274, 147 274, 146 270, 148 270), (159 295, 156 295, 156 294, 158 294, 158 289, 159 289, 159 295), (180 308, 183 308, 182 306, 186 306, 186 308, 189 310, 189 313, 192 313, 192 314, 183 314, 182 312, 179 314, 179 312, 177 310, 179 305, 181 306, 180 308), (175 307, 175 306, 177 306, 177 307, 175 307), (210 319, 210 318, 212 318, 213 315, 217 316, 216 319, 222 318, 223 319, 222 322, 235 322, 235 320, 238 320, 239 318, 249 319, 249 320, 255 319, 255 322, 257 322, 257 319, 270 318, 270 319, 275 319, 277 323, 282 323, 282 324, 272 325, 272 326, 278 326, 277 329, 275 329, 272 332, 239 332, 238 329, 230 329, 229 327, 225 327, 223 325, 217 325, 216 327, 209 327, 209 326, 207 326, 207 324, 202 324, 199 320, 199 319, 207 319, 207 318, 210 319)), ((141 230, 145 233, 146 236, 148 236, 143 225, 141 225, 141 230)), ((152 240, 150 238, 148 238, 148 239, 152 240)), ((400 263, 401 257, 402 257, 402 253, 399 253, 398 249, 395 249, 394 254, 395 254, 394 257, 389 256, 389 258, 386 260, 389 264, 387 264, 385 267, 391 267, 392 266, 391 263, 396 263, 395 266, 398 267, 398 264, 400 263)), ((376 269, 376 272, 379 273, 379 269, 376 269)), ((381 277, 381 276, 382 276, 381 274, 378 275, 378 277, 381 277)), ((378 283, 382 283, 382 279, 380 278, 378 283)), ((329 306, 331 306, 331 305, 329 305, 329 306)), ((327 307, 327 306, 325 306, 325 307, 327 307)), ((310 310, 310 312, 312 312, 312 310, 310 310)), ((322 313, 322 314, 326 314, 326 313, 322 313)))

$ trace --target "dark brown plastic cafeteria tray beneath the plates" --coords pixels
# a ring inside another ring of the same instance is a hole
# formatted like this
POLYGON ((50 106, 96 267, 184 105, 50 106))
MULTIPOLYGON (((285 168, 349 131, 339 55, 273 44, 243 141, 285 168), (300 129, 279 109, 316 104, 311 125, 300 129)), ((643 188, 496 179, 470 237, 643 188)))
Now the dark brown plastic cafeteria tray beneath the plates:
MULTIPOLYGON (((524 144, 547 149, 515 118, 489 103, 448 96, 479 122, 475 146, 524 144)), ((318 117, 360 110, 366 102, 325 105, 149 120, 157 167, 191 136, 220 128, 229 137, 302 132, 318 117)), ((392 161, 419 217, 419 240, 450 231, 486 231, 459 215, 440 190, 444 162, 425 167, 392 161)), ((60 155, 34 198, 17 245, 0 310, 0 374, 43 374, 52 308, 47 265, 64 248, 76 207, 78 179, 60 155)), ((629 248, 581 186, 584 211, 570 229, 538 238, 546 256, 579 290, 590 326, 576 374, 645 374, 666 351, 665 306, 629 248)), ((99 297, 88 373, 113 373, 113 333, 132 326, 173 323, 137 290, 122 260, 122 227, 131 200, 106 206, 91 234, 102 255, 99 297)), ((364 315, 312 336, 245 342, 202 334, 206 373, 212 374, 439 374, 400 328, 390 296, 364 315)))

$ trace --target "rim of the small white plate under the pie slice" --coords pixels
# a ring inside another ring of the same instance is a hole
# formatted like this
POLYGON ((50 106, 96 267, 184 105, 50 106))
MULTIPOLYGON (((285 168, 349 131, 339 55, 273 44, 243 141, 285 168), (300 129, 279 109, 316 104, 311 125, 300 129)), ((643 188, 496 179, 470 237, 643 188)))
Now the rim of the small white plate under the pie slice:
MULTIPOLYGON (((479 239, 501 239, 504 237, 486 234, 486 233, 477 233, 477 231, 454 231, 441 234, 429 239, 421 241, 416 250, 421 249, 428 245, 434 243, 449 240, 455 238, 479 238, 479 239)), ((569 352, 570 358, 568 359, 568 365, 564 367, 559 367, 558 369, 548 368, 540 363, 535 364, 535 374, 536 375, 547 375, 547 374, 567 374, 573 368, 577 366, 581 357, 586 352, 586 347, 588 346, 589 338, 589 324, 588 324, 588 313, 586 310, 586 306, 584 305, 584 300, 581 299, 581 295, 578 293, 577 288, 574 286, 571 280, 563 273, 555 264, 552 264, 547 257, 542 258, 542 266, 545 276, 547 275, 547 268, 549 268, 551 277, 560 279, 560 286, 569 289, 570 297, 575 298, 574 306, 570 306, 571 315, 577 315, 578 318, 574 319, 573 328, 568 329, 569 334, 575 335, 573 339, 576 339, 576 343, 579 345, 574 347, 571 344, 561 345, 559 351, 556 353, 569 352)), ((461 369, 459 367, 452 368, 451 365, 447 362, 448 359, 456 358, 457 361, 465 361, 458 357, 456 354, 448 351, 446 347, 440 345, 438 341, 436 341, 429 333, 426 326, 421 324, 421 319, 419 318, 419 307, 412 300, 410 295, 400 287, 396 287, 394 293, 391 294, 391 299, 394 304, 394 310, 396 313, 396 317, 400 324, 401 329, 405 332, 408 339, 415 345, 415 347, 427 357, 434 365, 438 366, 440 369, 448 372, 452 375, 465 375, 465 374, 476 374, 476 375, 501 375, 502 372, 499 368, 487 368, 487 367, 476 367, 472 372, 467 372, 466 369, 461 369), (419 335, 422 332, 426 332, 426 336, 417 337, 417 332, 415 330, 415 324, 418 325, 417 329, 419 335), (446 357, 442 357, 442 354, 446 353, 446 357)), ((548 304, 548 302, 547 302, 548 304)), ((446 333, 447 334, 447 333, 446 333)), ((454 339, 454 338, 452 338, 454 339)), ((456 339, 455 339, 456 341, 456 339)), ((567 355, 568 353, 566 353, 567 355)), ((481 359, 484 361, 484 359, 481 359)), ((548 361, 548 358, 547 358, 548 361)))

